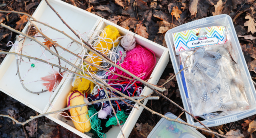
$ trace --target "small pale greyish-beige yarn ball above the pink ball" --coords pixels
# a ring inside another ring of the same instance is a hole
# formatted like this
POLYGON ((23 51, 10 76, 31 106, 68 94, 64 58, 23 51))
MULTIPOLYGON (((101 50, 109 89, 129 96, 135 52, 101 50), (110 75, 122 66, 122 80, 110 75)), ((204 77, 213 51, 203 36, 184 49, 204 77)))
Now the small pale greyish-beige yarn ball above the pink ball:
POLYGON ((125 50, 133 50, 135 48, 135 38, 132 34, 127 33, 122 39, 121 39, 121 46, 125 49, 125 50))

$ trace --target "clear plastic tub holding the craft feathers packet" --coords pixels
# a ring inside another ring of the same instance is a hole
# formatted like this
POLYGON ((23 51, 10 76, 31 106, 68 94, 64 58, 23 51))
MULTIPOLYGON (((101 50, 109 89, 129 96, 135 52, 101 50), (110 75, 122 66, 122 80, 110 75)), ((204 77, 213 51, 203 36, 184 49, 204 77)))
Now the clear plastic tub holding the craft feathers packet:
MULTIPOLYGON (((246 65, 246 61, 244 59, 244 55, 243 55, 240 43, 238 41, 238 37, 236 35, 236 31, 235 31, 232 19, 230 18, 230 16, 228 16, 226 14, 222 14, 222 15, 218 15, 218 16, 211 16, 211 17, 203 18, 203 19, 196 20, 193 22, 189 22, 186 24, 182 24, 181 26, 178 26, 178 27, 168 30, 168 32, 166 32, 165 41, 166 41, 166 44, 169 49, 169 53, 170 53, 170 57, 172 60, 172 65, 173 65, 175 74, 179 72, 180 65, 176 58, 177 56, 176 56, 176 53, 174 50, 172 33, 181 32, 181 31, 185 31, 185 30, 191 30, 191 29, 195 29, 195 28, 210 27, 210 26, 226 26, 227 40, 231 42, 232 54, 234 54, 234 57, 235 57, 234 60, 238 64, 238 66, 240 66, 239 71, 242 74, 242 80, 245 84, 245 88, 247 89, 246 96, 248 97, 248 102, 251 105, 251 109, 242 110, 239 112, 233 112, 232 114, 219 116, 219 117, 212 118, 209 120, 201 121, 207 127, 218 126, 221 124, 234 122, 234 121, 246 118, 248 116, 252 116, 253 114, 256 114, 256 91, 255 91, 254 85, 252 83, 250 72, 246 65)), ((181 74, 178 74, 176 76, 176 80, 177 80, 177 83, 179 86, 180 95, 182 98, 184 109, 191 113, 190 106, 188 104, 188 101, 186 99, 186 94, 184 92, 184 86, 182 83, 181 74)), ((194 119, 190 115, 186 114, 186 118, 187 118, 187 121, 189 124, 203 128, 203 126, 201 124, 199 124, 198 122, 195 122, 194 119)))

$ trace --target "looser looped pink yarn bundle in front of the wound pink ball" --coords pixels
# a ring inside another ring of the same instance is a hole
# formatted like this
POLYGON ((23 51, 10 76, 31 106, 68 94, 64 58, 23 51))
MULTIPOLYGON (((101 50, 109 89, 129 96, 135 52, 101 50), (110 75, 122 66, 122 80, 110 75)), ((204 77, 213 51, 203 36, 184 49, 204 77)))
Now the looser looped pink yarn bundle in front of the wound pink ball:
MULTIPOLYGON (((129 72, 131 72, 132 74, 136 75, 136 76, 142 76, 143 74, 146 74, 146 69, 147 67, 145 67, 144 65, 140 64, 138 61, 133 60, 132 58, 125 58, 124 59, 126 62, 122 63, 122 68, 128 70, 129 72)), ((110 68, 110 70, 112 70, 113 67, 110 68)), ((128 75, 127 73, 123 72, 122 70, 119 70, 118 68, 116 68, 116 70, 114 71, 117 74, 132 78, 130 75, 128 75)), ((146 80, 146 75, 140 77, 142 80, 146 80)), ((116 79, 119 80, 125 80, 127 81, 128 79, 126 78, 120 78, 117 75, 111 74, 108 76, 108 79, 114 79, 114 80, 110 80, 109 83, 114 83, 114 82, 121 82, 121 81, 116 81, 116 79)), ((141 82, 136 81, 135 83, 141 84, 141 82)))

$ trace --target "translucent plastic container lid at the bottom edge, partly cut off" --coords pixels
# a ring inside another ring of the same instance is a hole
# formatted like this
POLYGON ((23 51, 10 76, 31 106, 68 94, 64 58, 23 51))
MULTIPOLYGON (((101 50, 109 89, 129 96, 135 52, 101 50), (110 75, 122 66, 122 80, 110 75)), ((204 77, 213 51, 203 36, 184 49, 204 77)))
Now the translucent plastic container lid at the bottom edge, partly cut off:
MULTIPOLYGON (((164 116, 171 119, 177 118, 177 116, 169 112, 164 116)), ((184 122, 180 118, 177 120, 184 122)), ((162 118, 150 132, 148 138, 205 138, 205 136, 195 128, 162 118)))

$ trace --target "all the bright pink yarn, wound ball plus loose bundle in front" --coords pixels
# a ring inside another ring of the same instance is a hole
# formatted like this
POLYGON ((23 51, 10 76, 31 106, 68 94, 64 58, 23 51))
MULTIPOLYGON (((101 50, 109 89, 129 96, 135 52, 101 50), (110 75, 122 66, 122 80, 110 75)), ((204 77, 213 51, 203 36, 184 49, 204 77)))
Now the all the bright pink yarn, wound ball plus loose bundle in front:
MULTIPOLYGON (((154 52, 152 52, 148 48, 144 48, 139 44, 136 44, 136 47, 133 50, 128 51, 126 53, 126 58, 124 59, 124 62, 121 64, 121 66, 122 68, 128 70, 129 72, 131 72, 132 74, 138 77, 143 75, 140 78, 142 80, 146 80, 150 77, 155 64, 156 64, 156 56, 154 52)), ((113 67, 110 68, 110 70, 112 69, 113 67)), ((114 72, 123 76, 127 76, 129 78, 132 78, 130 75, 126 74, 122 70, 116 69, 114 72)), ((125 78, 119 78, 119 76, 113 75, 113 74, 108 76, 108 79, 113 79, 113 80, 119 79, 119 80, 126 80, 126 81, 128 80, 125 78)), ((121 81, 109 81, 109 83, 113 83, 113 82, 121 82, 121 81)), ((141 84, 138 81, 136 81, 135 83, 141 84)))

